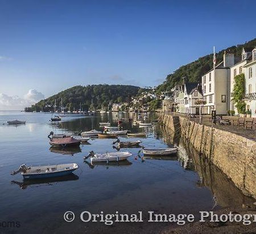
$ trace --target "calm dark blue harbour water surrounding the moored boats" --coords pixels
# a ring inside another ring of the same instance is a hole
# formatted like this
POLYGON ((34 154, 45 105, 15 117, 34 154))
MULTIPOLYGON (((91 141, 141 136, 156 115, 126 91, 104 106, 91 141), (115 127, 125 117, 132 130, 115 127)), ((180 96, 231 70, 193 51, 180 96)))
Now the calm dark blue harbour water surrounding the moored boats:
MULTIPOLYGON (((1 233, 157 233, 170 223, 147 223, 147 211, 160 214, 198 214, 200 210, 241 206, 252 202, 245 197, 218 169, 185 146, 174 133, 159 126, 123 129, 146 131, 141 138, 147 147, 166 147, 176 144, 176 157, 138 158, 139 148, 129 150, 129 161, 92 167, 84 163, 89 151, 112 152, 113 139, 92 139, 80 148, 61 151, 49 146, 49 131, 65 133, 100 129, 98 122, 116 121, 112 114, 96 117, 65 117, 60 124, 49 122, 51 114, 0 112, 0 222, 20 222, 19 228, 1 228, 1 233), (26 125, 8 126, 7 120, 26 120, 26 125), (44 165, 78 163, 75 175, 58 180, 26 182, 20 174, 10 171, 20 164, 44 165), (11 182, 13 181, 13 182, 11 182), (63 219, 65 211, 76 214, 72 223, 63 219), (82 223, 82 211, 104 211, 133 214, 143 211, 143 223, 82 223)), ((129 116, 123 116, 129 117, 129 116)), ((132 116, 130 116, 132 117, 132 116)), ((155 117, 153 117, 155 118, 155 117)), ((137 139, 137 138, 134 138, 137 139)))

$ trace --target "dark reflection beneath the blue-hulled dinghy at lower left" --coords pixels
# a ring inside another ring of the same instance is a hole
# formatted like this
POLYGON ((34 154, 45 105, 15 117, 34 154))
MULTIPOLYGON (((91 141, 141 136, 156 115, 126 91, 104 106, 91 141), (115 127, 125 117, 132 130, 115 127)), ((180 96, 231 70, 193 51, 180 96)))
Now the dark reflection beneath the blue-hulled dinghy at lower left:
POLYGON ((20 189, 27 189, 28 186, 31 186, 31 187, 51 186, 56 184, 57 182, 72 181, 72 180, 78 180, 78 179, 79 179, 79 176, 72 173, 70 175, 61 176, 61 177, 52 177, 52 178, 35 179, 35 180, 23 180, 22 182, 11 181, 11 183, 18 185, 20 189))

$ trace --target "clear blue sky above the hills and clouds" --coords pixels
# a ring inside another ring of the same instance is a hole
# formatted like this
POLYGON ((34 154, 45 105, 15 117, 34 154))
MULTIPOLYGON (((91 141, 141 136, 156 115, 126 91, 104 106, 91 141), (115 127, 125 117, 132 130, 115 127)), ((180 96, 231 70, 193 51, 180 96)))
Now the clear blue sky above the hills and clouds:
POLYGON ((155 86, 213 45, 254 39, 255 8, 229 0, 0 0, 0 93, 23 99, 28 90, 47 97, 77 84, 155 86))

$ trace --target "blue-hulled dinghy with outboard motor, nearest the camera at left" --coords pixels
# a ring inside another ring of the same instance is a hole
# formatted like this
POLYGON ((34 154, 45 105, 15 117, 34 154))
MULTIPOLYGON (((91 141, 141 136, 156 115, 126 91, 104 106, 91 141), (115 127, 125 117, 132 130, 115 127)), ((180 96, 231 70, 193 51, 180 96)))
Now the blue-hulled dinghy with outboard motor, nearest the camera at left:
POLYGON ((24 179, 49 178, 67 176, 77 168, 79 168, 77 163, 47 165, 39 167, 27 167, 26 164, 22 164, 18 170, 11 172, 11 175, 21 173, 24 179))

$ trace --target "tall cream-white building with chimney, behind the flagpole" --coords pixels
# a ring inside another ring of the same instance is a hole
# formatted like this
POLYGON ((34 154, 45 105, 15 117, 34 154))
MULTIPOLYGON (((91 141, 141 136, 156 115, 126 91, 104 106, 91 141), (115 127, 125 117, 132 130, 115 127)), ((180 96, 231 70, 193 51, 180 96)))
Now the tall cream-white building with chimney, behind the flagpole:
POLYGON ((226 114, 230 109, 230 67, 233 65, 234 54, 224 53, 223 61, 202 76, 204 114, 210 114, 211 110, 226 114))

